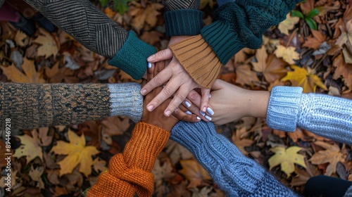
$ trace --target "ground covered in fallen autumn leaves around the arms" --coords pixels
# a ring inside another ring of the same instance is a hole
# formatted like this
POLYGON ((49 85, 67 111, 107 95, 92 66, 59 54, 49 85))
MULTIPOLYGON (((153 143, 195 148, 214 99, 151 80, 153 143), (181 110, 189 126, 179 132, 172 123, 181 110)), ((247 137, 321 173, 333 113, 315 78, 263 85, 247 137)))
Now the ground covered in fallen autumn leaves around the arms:
MULTIPOLYGON (((145 42, 165 49, 161 1, 93 1, 108 17, 145 42), (128 2, 128 3, 127 3, 128 2), (101 8, 101 4, 106 7, 101 8), (124 15, 117 11, 127 11, 124 15)), ((222 68, 220 78, 240 87, 270 90, 277 85, 303 87, 352 98, 351 1, 307 0, 292 15, 270 28, 258 50, 243 49, 222 68)), ((213 0, 202 0, 204 23, 212 21, 213 0)), ((1 82, 122 83, 132 78, 109 66, 62 30, 48 33, 37 26, 27 37, 0 22, 1 82)), ((134 124, 126 117, 33 130, 12 130, 11 193, 0 196, 61 196, 80 193, 120 153, 134 124), (75 163, 72 160, 76 160, 75 163), (84 165, 82 165, 84 164, 84 165)), ((318 174, 352 180, 351 146, 303 129, 287 133, 270 129, 265 120, 246 117, 218 127, 241 151, 258 161, 283 184, 303 193, 306 181, 318 174)), ((1 136, 4 139, 4 132, 1 136)), ((0 155, 5 153, 0 141, 0 155)), ((4 171, 6 161, 0 160, 4 171)), ((185 148, 169 141, 156 160, 155 196, 224 196, 208 173, 185 148)), ((4 173, 3 173, 4 175, 4 173)), ((2 175, 1 175, 2 176, 2 175)))

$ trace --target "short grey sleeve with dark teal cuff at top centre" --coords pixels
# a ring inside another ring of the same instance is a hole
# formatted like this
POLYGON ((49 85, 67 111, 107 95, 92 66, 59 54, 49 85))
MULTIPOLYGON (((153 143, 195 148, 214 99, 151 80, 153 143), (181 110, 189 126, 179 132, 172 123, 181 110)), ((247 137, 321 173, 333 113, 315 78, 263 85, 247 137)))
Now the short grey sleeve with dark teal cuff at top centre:
POLYGON ((203 27, 200 0, 163 0, 165 32, 168 37, 199 34, 203 27))

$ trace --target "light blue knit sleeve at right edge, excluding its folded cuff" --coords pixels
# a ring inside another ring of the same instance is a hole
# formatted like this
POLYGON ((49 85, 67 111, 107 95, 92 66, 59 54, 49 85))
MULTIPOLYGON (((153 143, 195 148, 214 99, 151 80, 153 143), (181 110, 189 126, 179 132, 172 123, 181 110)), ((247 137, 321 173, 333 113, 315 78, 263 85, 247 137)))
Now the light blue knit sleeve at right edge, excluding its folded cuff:
POLYGON ((352 144, 352 100, 325 94, 302 94, 297 127, 352 144))

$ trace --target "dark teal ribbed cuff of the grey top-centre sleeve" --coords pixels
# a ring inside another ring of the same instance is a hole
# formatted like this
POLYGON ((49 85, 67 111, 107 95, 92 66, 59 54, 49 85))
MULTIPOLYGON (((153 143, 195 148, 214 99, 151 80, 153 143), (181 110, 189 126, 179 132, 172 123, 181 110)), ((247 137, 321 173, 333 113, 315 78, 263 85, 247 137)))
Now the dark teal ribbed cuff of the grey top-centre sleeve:
POLYGON ((198 10, 175 10, 164 14, 166 35, 193 36, 201 32, 203 27, 203 12, 198 10))

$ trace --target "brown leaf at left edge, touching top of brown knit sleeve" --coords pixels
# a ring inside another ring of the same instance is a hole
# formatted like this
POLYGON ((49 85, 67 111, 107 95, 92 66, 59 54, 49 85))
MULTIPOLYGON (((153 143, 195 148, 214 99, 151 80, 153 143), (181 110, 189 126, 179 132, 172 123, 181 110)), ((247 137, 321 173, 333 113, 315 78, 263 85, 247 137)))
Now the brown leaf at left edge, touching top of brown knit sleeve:
POLYGON ((20 72, 15 65, 11 64, 8 67, 1 65, 4 75, 12 82, 18 83, 45 83, 42 78, 42 72, 35 70, 34 61, 23 58, 23 65, 21 65, 23 72, 20 72))

